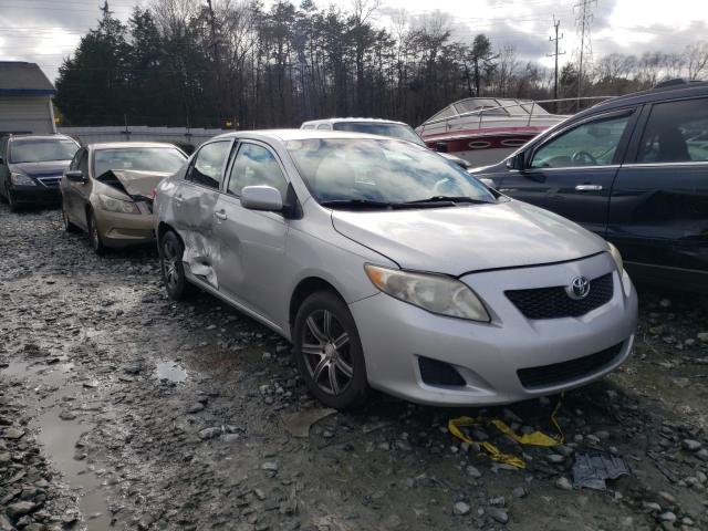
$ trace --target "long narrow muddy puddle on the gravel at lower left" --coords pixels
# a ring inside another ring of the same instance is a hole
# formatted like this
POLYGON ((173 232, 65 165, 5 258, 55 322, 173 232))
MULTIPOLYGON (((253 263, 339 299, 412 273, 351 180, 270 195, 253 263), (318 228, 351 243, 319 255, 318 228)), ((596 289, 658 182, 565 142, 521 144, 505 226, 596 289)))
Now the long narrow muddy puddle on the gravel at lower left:
POLYGON ((77 441, 92 426, 77 418, 61 419, 62 404, 71 402, 82 392, 80 383, 72 383, 74 365, 59 358, 56 363, 10 362, 0 369, 7 378, 27 381, 34 393, 28 393, 28 407, 35 408, 38 416, 28 425, 37 434, 42 452, 61 472, 63 481, 79 497, 85 529, 104 531, 110 529, 108 508, 100 490, 100 478, 83 461, 77 441))

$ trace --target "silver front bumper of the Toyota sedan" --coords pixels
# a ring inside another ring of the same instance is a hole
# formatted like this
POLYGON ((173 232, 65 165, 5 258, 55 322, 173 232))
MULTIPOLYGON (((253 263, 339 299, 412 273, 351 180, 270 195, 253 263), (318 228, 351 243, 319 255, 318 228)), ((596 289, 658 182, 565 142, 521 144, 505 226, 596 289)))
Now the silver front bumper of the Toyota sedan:
POLYGON ((631 287, 628 295, 623 293, 614 268, 608 253, 602 253, 574 262, 464 277, 489 309, 491 323, 435 315, 384 293, 354 302, 350 309, 364 347, 369 385, 419 404, 471 406, 509 404, 593 382, 627 358, 634 340, 636 291, 631 287), (593 279, 610 271, 612 299, 580 317, 528 320, 503 293, 559 285, 580 274, 593 279), (610 360, 560 383, 524 387, 519 377, 522 369, 585 363, 580 358, 612 347, 610 360), (427 384, 420 374, 420 356, 451 365, 465 385, 427 384))

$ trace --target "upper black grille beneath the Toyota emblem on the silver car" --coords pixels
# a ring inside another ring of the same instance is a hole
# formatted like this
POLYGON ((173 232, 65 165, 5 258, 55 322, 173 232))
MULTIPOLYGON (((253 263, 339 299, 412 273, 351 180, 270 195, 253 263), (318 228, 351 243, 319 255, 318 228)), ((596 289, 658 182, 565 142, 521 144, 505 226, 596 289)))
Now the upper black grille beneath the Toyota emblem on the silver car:
POLYGON ((590 281, 590 292, 585 299, 571 299, 563 285, 511 290, 504 294, 528 319, 559 319, 580 317, 606 304, 612 299, 613 290, 612 273, 607 273, 590 281))

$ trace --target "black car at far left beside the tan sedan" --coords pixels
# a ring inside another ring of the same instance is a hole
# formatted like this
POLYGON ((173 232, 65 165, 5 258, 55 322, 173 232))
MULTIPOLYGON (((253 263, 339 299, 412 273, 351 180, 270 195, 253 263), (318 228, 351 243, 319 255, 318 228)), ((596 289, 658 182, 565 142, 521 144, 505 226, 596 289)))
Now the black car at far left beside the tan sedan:
POLYGON ((59 205, 59 181, 79 147, 64 135, 0 138, 0 200, 13 211, 21 205, 59 205))

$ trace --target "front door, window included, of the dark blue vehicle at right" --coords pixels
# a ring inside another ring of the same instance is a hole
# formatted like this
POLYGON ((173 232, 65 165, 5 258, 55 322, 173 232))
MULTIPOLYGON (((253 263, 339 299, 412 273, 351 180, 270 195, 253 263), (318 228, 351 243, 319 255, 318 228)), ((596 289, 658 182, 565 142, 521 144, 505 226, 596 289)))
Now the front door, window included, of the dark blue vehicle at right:
POLYGON ((559 129, 525 154, 525 168, 499 189, 604 236, 610 192, 636 121, 636 108, 589 117, 559 129))

